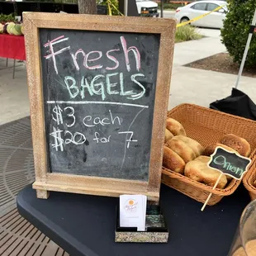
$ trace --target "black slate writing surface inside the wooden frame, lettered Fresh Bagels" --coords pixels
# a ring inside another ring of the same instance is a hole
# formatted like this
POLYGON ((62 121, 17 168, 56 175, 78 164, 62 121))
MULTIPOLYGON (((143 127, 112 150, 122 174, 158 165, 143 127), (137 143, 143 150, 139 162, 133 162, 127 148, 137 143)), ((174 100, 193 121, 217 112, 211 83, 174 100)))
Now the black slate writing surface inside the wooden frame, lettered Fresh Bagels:
POLYGON ((148 181, 159 35, 40 29, 40 52, 50 171, 148 181))

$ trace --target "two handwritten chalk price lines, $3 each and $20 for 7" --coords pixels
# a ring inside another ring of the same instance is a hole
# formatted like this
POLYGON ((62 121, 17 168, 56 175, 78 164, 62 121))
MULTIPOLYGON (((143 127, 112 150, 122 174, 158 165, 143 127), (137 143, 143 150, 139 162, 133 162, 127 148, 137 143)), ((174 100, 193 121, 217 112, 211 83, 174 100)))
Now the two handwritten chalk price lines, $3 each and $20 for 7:
MULTIPOLYGON (((72 127, 74 126, 75 122, 76 122, 76 116, 74 115, 74 109, 73 107, 64 107, 64 109, 62 109, 61 107, 59 107, 59 105, 55 106, 53 109, 53 114, 52 114, 52 119, 56 122, 57 125, 63 125, 64 120, 63 120, 63 112, 69 116, 71 118, 71 121, 69 121, 69 123, 65 123, 65 125, 67 127, 72 127)), ((108 118, 104 118, 102 121, 100 121, 100 118, 97 117, 94 119, 94 125, 88 125, 85 123, 85 120, 91 120, 92 116, 86 116, 83 118, 83 124, 84 126, 88 126, 88 127, 93 127, 97 124, 99 125, 114 125, 116 118, 117 121, 119 122, 119 125, 121 125, 120 119, 118 116, 116 116, 115 118, 112 117, 111 111, 110 115, 111 115, 111 122, 103 122, 103 120, 109 120, 108 118), (95 122, 96 119, 98 120, 97 123, 95 122)), ((133 131, 120 131, 118 132, 119 135, 126 135, 126 147, 127 149, 129 149, 130 147, 130 142, 136 142, 138 140, 133 140, 133 135, 134 132, 133 131)), ((70 143, 72 143, 73 145, 82 145, 84 144, 87 139, 86 136, 83 135, 83 133, 80 132, 70 132, 69 130, 60 130, 59 126, 57 126, 57 128, 54 126, 53 127, 53 132, 50 133, 51 136, 54 137, 55 143, 52 144, 52 147, 54 149, 56 149, 56 151, 64 151, 64 145, 69 145, 70 143), (63 138, 64 137, 64 138, 63 138)), ((99 132, 95 132, 94 133, 94 141, 96 141, 96 143, 108 143, 111 140, 111 135, 109 135, 108 137, 102 137, 100 136, 99 132)))

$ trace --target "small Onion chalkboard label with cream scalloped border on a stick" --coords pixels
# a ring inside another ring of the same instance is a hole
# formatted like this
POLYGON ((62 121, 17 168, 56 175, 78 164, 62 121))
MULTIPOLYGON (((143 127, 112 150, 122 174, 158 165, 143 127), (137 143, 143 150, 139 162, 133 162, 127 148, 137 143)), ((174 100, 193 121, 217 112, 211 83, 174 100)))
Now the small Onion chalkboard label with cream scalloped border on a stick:
POLYGON ((244 173, 248 171, 250 163, 251 159, 221 147, 216 147, 214 153, 211 154, 211 161, 208 165, 232 178, 241 179, 243 178, 244 173))

